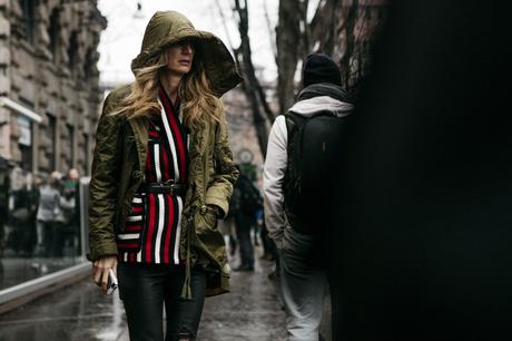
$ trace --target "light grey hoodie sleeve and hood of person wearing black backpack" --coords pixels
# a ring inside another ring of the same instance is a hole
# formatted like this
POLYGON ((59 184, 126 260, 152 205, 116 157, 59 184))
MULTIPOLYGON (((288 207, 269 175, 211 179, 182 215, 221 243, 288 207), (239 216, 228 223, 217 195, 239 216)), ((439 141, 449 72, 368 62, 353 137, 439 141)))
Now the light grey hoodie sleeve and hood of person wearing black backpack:
MULTIPOLYGON (((335 116, 343 117, 351 114, 353 108, 349 103, 329 96, 316 96, 297 101, 288 111, 312 117, 319 111, 328 110, 335 116)), ((287 226, 283 194, 283 179, 288 162, 287 143, 286 120, 285 116, 280 115, 272 126, 263 174, 265 224, 268 235, 276 242, 278 249, 282 247, 284 230, 287 226)))

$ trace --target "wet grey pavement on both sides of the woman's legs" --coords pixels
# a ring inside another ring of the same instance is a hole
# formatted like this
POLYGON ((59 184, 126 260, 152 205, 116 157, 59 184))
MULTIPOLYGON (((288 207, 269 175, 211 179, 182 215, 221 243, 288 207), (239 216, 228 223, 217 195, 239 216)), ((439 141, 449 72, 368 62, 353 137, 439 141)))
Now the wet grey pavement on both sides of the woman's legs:
MULTIPOLYGON (((286 340, 270 271, 272 264, 262 261, 255 272, 234 272, 232 292, 206 300, 198 340, 286 340)), ((105 296, 85 280, 0 315, 0 341, 26 340, 127 341, 122 302, 118 293, 105 296)))

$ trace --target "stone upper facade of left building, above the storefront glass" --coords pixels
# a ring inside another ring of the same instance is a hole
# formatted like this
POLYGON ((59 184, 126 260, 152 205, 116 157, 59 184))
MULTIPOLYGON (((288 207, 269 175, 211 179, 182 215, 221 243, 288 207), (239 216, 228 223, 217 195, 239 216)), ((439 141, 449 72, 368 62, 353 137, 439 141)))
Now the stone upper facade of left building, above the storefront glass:
POLYGON ((89 174, 106 26, 97 0, 0 0, 0 158, 14 173, 89 174))

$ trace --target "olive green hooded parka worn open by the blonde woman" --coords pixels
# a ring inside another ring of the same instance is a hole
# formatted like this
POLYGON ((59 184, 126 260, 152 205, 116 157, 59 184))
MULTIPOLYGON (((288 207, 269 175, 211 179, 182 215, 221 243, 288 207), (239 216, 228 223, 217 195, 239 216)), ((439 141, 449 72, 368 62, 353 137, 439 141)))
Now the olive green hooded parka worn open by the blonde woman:
MULTIPOLYGON (((168 46, 194 40, 204 58, 203 65, 217 96, 242 81, 235 62, 224 43, 214 35, 198 31, 183 14, 156 12, 142 40, 141 52, 131 69, 152 65, 168 46), (206 57, 207 56, 207 57, 206 57)), ((195 57, 195 58, 196 58, 195 57)), ((90 261, 117 255, 116 234, 122 232, 132 198, 142 183, 148 142, 148 121, 109 115, 130 92, 130 85, 115 89, 104 104, 97 128, 89 197, 90 261)), ((190 130, 188 189, 181 218, 180 256, 186 260, 183 295, 190 298, 190 267, 201 265, 208 272, 207 295, 229 291, 229 266, 217 220, 207 205, 228 213, 228 202, 238 172, 233 164, 227 124, 205 120, 190 130)))

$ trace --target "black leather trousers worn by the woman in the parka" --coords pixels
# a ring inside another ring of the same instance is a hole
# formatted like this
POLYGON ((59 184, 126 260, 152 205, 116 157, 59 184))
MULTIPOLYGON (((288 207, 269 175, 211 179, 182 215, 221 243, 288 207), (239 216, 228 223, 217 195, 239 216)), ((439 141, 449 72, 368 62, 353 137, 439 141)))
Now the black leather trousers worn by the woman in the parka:
POLYGON ((195 340, 206 293, 206 273, 193 269, 191 300, 181 299, 185 270, 173 265, 120 263, 119 294, 131 341, 195 340))

